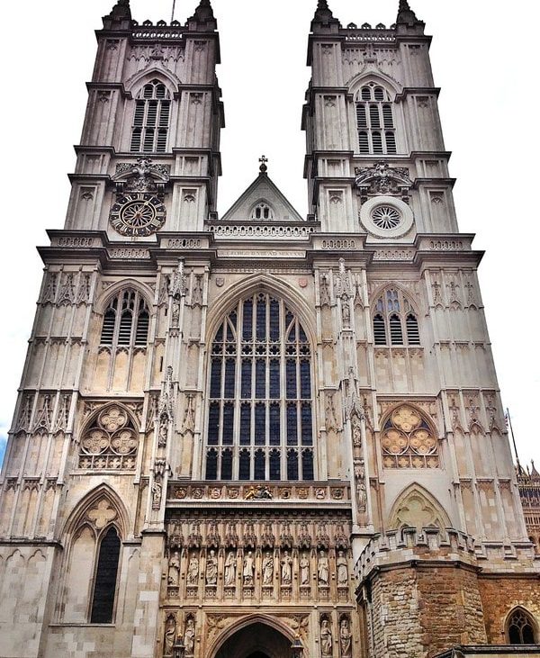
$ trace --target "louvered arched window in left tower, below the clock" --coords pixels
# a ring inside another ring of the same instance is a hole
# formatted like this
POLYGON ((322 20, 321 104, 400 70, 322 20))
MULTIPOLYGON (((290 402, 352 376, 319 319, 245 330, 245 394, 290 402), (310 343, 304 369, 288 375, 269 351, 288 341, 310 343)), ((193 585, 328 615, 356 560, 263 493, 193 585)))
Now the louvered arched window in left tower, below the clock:
POLYGON ((144 347, 148 342, 148 307, 135 290, 122 290, 107 306, 103 316, 101 345, 144 347))

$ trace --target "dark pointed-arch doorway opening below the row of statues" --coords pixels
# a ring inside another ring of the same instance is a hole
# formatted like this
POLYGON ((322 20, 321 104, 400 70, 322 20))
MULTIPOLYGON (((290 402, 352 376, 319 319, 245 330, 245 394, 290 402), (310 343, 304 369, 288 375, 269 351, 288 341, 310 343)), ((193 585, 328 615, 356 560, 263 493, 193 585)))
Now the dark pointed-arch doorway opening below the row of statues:
POLYGON ((291 644, 272 626, 257 622, 231 635, 215 658, 291 658, 291 644))

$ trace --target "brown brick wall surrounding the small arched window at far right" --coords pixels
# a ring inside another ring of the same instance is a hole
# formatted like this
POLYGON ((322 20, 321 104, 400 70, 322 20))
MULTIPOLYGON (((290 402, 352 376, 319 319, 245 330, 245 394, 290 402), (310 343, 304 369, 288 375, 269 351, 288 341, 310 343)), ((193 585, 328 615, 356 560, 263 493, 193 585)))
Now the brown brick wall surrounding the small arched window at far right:
POLYGON ((484 623, 490 644, 506 644, 505 623, 510 610, 521 606, 540 628, 540 581, 538 577, 479 579, 484 623))

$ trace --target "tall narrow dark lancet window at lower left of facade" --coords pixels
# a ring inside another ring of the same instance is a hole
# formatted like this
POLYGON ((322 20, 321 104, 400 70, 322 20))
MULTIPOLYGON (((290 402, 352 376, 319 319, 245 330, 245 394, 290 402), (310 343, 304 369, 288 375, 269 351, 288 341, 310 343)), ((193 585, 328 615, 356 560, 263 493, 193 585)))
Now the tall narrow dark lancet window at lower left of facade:
POLYGON ((107 530, 99 548, 90 618, 92 624, 110 624, 112 622, 119 557, 120 539, 116 529, 111 527, 107 530))

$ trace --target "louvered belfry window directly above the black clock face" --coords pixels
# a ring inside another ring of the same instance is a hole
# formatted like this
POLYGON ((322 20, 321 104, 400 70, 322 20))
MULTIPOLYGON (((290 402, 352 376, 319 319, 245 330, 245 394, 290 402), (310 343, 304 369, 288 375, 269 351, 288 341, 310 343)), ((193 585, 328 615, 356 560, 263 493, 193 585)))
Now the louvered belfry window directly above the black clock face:
POLYGON ((135 101, 131 153, 165 153, 171 112, 170 95, 159 80, 143 86, 135 101))

